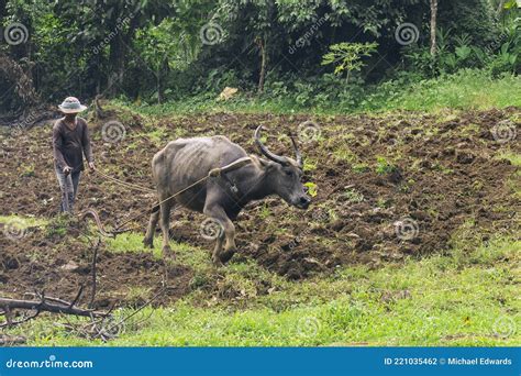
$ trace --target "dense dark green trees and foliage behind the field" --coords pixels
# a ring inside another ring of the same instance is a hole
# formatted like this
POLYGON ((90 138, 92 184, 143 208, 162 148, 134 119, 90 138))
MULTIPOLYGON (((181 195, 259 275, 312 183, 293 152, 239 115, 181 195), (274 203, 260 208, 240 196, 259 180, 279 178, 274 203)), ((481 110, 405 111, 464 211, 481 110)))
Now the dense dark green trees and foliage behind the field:
POLYGON ((440 2, 434 54, 431 3, 0 0, 0 56, 13 62, 0 66, 0 109, 23 104, 20 71, 46 102, 70 93, 162 102, 231 86, 301 104, 462 68, 519 73, 514 0, 440 2))

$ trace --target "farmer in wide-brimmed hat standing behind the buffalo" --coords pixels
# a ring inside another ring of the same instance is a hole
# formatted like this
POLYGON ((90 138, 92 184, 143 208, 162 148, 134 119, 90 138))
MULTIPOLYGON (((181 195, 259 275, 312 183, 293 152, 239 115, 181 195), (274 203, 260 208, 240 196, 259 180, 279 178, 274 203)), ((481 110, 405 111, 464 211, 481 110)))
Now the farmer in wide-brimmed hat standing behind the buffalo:
POLYGON ((92 151, 90 148, 87 122, 77 114, 87 109, 75 97, 68 97, 58 106, 64 118, 58 119, 53 128, 54 167, 62 189, 62 212, 73 212, 78 195, 78 183, 85 158, 89 168, 95 170, 92 151))

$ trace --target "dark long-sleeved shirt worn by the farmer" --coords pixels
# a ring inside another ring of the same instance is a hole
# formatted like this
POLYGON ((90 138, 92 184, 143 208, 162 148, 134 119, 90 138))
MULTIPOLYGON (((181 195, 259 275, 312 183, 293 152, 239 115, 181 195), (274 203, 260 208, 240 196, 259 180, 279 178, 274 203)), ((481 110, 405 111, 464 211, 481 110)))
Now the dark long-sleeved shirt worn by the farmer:
POLYGON ((69 166, 74 173, 84 170, 84 153, 89 163, 93 162, 87 122, 76 118, 76 126, 71 130, 64 118, 57 120, 53 126, 53 151, 54 164, 59 169, 69 166))

